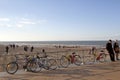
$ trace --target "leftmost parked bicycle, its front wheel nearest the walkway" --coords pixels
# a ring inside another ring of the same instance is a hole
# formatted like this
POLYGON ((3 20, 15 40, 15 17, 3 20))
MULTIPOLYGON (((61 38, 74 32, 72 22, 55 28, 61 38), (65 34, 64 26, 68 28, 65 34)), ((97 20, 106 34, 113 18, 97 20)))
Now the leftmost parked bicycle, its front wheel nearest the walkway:
POLYGON ((29 61, 32 60, 32 58, 30 58, 29 56, 25 56, 25 62, 23 62, 22 61, 23 59, 19 59, 17 55, 14 55, 14 56, 15 56, 16 60, 12 61, 12 62, 9 62, 6 65, 6 72, 7 73, 9 73, 9 74, 15 74, 18 71, 18 69, 20 67, 20 64, 23 64, 23 63, 24 63, 24 65, 22 66, 22 68, 24 70, 27 69, 28 71, 30 71, 29 70, 30 68, 28 66, 26 66, 26 65, 27 65, 27 63, 29 61))

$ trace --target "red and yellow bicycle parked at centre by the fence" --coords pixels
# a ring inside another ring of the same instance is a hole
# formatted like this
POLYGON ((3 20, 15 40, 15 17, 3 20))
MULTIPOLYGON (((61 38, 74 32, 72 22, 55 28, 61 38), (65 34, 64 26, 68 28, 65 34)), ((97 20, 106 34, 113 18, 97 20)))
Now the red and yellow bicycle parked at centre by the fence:
POLYGON ((81 57, 77 55, 75 52, 72 53, 72 55, 62 55, 60 58, 60 65, 64 68, 67 68, 70 64, 75 64, 77 66, 80 66, 82 63, 81 57))

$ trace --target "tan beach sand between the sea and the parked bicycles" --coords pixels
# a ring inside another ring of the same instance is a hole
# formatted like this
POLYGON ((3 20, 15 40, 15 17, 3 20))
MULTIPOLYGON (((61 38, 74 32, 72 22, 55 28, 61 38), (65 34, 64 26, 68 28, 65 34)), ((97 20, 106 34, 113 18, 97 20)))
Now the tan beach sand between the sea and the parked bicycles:
MULTIPOLYGON (((31 45, 32 46, 32 45, 31 45)), ((62 55, 70 55, 73 52, 76 52, 76 54, 82 55, 81 53, 85 53, 85 51, 88 53, 90 51, 90 47, 86 46, 42 46, 42 47, 35 47, 33 51, 31 52, 31 46, 30 45, 21 45, 13 48, 10 45, 0 45, 0 71, 4 71, 3 64, 7 64, 11 61, 15 60, 15 57, 13 55, 17 55, 19 59, 25 58, 25 55, 36 55, 39 53, 40 56, 43 56, 42 50, 44 49, 48 57, 60 59, 62 55), (6 46, 9 46, 8 53, 6 53, 6 46), (24 47, 27 46, 27 51, 24 50, 24 47), (83 51, 85 50, 85 51, 83 51)))

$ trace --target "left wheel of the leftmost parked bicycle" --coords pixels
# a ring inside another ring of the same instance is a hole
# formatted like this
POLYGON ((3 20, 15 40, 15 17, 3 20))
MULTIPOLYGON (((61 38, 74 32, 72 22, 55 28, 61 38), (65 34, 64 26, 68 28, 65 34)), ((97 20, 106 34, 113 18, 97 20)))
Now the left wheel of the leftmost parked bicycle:
POLYGON ((18 70, 18 64, 16 62, 10 62, 6 66, 6 71, 9 74, 14 74, 18 70))

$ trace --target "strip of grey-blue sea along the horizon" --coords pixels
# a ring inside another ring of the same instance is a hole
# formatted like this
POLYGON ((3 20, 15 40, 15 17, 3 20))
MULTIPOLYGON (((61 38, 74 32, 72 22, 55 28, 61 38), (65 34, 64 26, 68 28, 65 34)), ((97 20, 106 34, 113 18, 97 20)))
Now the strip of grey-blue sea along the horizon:
MULTIPOLYGON (((32 45, 32 46, 100 46, 105 47, 107 41, 0 41, 2 45, 32 45)), ((120 42, 119 42, 120 43, 120 42)))

